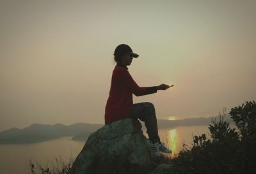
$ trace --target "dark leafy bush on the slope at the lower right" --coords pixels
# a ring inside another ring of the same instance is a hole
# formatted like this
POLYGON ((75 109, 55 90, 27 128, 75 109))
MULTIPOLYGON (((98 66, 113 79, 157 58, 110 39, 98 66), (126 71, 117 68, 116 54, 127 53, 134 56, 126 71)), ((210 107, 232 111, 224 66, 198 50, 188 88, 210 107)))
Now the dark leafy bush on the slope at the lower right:
POLYGON ((173 173, 255 173, 256 105, 246 102, 230 113, 238 130, 225 120, 225 109, 219 120, 209 125, 211 138, 194 136, 193 147, 184 148, 170 160, 173 173))

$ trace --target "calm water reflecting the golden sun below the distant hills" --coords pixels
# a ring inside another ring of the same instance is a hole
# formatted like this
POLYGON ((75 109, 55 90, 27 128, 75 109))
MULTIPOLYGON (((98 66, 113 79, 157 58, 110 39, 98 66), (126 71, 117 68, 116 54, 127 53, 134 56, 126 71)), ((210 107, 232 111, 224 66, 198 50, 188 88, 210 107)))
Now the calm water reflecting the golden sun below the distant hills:
MULTIPOLYGON (((145 136, 147 133, 143 131, 145 136)), ((191 146, 192 134, 205 133, 209 137, 207 126, 180 126, 173 129, 159 129, 159 136, 170 149, 172 157, 179 153, 182 144, 191 146)), ((64 137, 42 143, 6 144, 0 145, 0 173, 17 174, 29 173, 28 164, 37 161, 43 167, 51 168, 56 157, 61 156, 63 161, 68 161, 70 156, 76 157, 83 149, 84 141, 73 141, 72 137, 64 137)))

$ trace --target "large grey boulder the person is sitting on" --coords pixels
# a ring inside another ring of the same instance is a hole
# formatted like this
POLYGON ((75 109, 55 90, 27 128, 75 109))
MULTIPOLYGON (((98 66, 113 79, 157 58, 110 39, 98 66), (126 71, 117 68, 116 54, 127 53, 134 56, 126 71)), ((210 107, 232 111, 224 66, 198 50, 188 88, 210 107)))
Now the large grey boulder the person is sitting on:
POLYGON ((156 165, 146 140, 137 119, 107 124, 90 134, 71 173, 150 173, 156 165))

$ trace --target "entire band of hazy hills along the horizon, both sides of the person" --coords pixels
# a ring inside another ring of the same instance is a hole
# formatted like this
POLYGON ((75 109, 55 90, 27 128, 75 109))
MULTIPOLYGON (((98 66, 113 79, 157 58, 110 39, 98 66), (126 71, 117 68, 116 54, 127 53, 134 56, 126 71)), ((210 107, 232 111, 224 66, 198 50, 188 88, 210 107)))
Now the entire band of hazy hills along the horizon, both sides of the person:
MULTIPOLYGON (((227 120, 230 116, 225 116, 227 120)), ((212 119, 209 118, 193 118, 182 120, 157 120, 159 129, 172 128, 177 126, 196 126, 209 125, 212 119)), ((230 124, 233 124, 230 120, 230 124)), ((143 124, 144 125, 144 124, 143 124)), ((72 140, 86 141, 91 133, 97 131, 103 124, 76 123, 66 126, 64 124, 31 124, 24 129, 11 128, 0 132, 0 144, 6 143, 37 143, 46 140, 61 138, 64 136, 72 136, 72 140)), ((145 129, 145 127, 143 127, 145 129)))

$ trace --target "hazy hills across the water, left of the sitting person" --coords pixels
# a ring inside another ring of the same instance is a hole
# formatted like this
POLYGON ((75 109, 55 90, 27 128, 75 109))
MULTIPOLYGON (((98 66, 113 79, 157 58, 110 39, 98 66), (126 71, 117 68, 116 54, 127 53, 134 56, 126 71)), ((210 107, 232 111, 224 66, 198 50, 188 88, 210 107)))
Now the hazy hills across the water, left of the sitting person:
POLYGON ((76 123, 69 126, 64 124, 31 124, 24 129, 12 128, 0 133, 0 143, 36 143, 45 140, 74 136, 82 132, 94 132, 102 124, 76 123))

